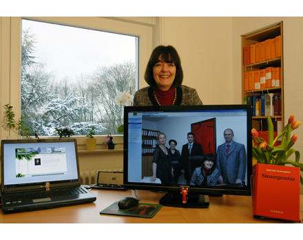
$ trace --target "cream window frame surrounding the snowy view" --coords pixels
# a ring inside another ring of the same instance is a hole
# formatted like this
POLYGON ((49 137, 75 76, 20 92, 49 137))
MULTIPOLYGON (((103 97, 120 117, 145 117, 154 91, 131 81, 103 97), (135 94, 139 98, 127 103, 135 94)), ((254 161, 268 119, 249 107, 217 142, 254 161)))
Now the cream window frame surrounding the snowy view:
MULTIPOLYGON (((28 19, 57 23, 105 32, 129 34, 138 37, 138 88, 146 85, 143 74, 155 43, 155 28, 158 17, 0 17, 0 103, 13 106, 17 119, 21 115, 21 20, 28 19)), ((158 35, 158 34, 156 34, 158 35)), ((19 138, 17 133, 0 130, 1 139, 19 138)), ((118 136, 117 136, 118 137, 118 136)), ((85 136, 76 136, 81 142, 85 136)), ((98 138, 105 139, 104 136, 98 138)), ((123 141, 123 137, 121 138, 123 141)))

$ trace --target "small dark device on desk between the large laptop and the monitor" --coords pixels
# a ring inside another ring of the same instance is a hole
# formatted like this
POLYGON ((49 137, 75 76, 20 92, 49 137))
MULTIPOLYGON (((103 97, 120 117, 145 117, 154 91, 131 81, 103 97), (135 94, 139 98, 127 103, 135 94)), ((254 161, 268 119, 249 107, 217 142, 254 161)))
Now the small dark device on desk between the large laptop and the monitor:
POLYGON ((126 190, 123 188, 123 172, 98 171, 97 183, 91 188, 126 190))

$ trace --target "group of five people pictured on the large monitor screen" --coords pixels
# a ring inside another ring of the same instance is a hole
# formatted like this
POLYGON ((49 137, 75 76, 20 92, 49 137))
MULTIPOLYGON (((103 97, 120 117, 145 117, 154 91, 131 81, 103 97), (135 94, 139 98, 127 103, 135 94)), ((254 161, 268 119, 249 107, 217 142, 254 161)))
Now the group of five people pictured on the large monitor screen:
POLYGON ((204 188, 212 186, 243 186, 247 168, 247 155, 242 143, 233 141, 233 130, 223 132, 225 142, 218 146, 216 155, 203 154, 202 147, 194 141, 193 132, 187 133, 187 143, 181 152, 176 149, 177 141, 169 139, 164 132, 158 134, 158 146, 154 150, 152 161, 153 175, 151 181, 160 179, 161 184, 172 186, 178 184, 183 174, 189 186, 204 188), (200 165, 191 170, 190 161, 200 159, 200 165))

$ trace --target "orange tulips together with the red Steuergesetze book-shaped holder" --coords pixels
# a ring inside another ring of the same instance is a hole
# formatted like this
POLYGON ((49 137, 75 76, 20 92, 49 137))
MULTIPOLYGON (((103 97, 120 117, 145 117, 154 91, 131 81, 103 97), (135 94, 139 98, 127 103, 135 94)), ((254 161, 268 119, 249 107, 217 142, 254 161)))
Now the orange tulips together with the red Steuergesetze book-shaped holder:
POLYGON ((253 166, 253 214, 255 217, 269 217, 300 221, 300 182, 303 184, 300 152, 293 149, 297 134, 291 137, 291 131, 301 122, 295 121, 295 115, 283 130, 273 139, 273 123, 267 117, 268 141, 259 137, 258 131, 251 130, 253 136, 253 157, 257 163, 253 166), (278 139, 282 142, 276 145, 278 139), (289 157, 295 153, 295 161, 289 157), (291 165, 291 166, 289 166, 291 165))

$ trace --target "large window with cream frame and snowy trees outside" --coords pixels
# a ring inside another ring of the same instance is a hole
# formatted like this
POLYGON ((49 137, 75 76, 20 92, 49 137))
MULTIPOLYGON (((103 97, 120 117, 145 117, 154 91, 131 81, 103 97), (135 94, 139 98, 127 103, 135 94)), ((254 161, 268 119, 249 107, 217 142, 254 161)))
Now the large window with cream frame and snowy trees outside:
POLYGON ((123 107, 114 99, 118 92, 138 89, 153 48, 152 24, 103 17, 11 17, 10 26, 10 66, 2 67, 10 70, 10 94, 1 105, 10 102, 32 135, 35 130, 54 135, 55 127, 85 135, 91 126, 97 134, 115 134, 123 123, 123 107), (109 37, 111 44, 105 41, 109 37))

